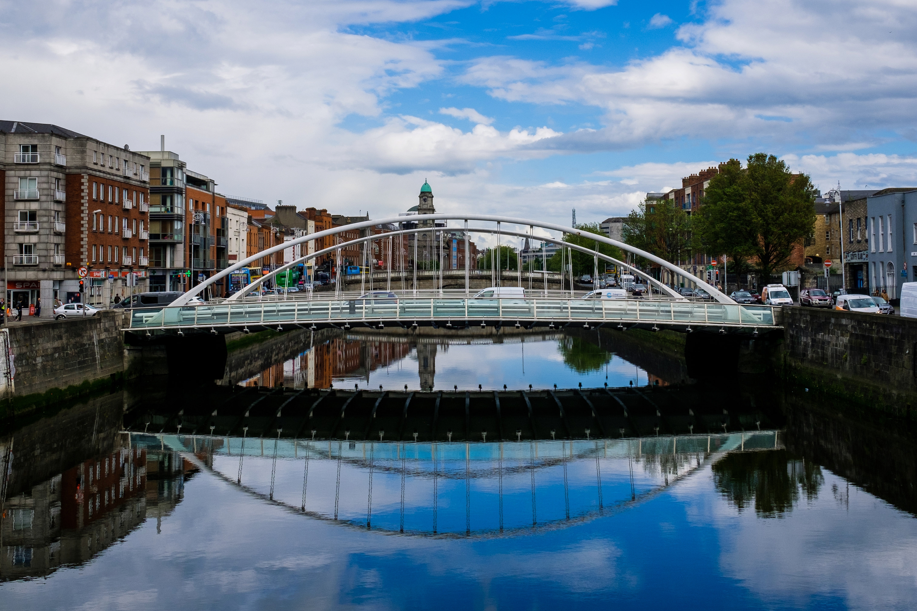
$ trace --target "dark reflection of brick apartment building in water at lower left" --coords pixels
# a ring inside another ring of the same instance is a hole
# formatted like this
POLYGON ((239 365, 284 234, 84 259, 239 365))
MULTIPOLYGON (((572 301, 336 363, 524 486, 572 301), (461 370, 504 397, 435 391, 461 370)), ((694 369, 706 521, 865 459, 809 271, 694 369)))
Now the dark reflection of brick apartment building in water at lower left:
POLYGON ((0 518, 0 581, 88 562, 151 511, 158 518, 171 511, 187 466, 178 453, 159 447, 122 447, 7 498, 0 518))

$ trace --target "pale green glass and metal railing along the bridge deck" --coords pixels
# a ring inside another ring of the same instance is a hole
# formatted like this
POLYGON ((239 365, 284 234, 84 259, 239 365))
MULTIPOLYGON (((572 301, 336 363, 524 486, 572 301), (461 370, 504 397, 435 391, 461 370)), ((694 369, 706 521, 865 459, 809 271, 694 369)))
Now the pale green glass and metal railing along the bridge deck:
POLYGON ((224 302, 135 309, 131 329, 297 322, 669 322, 774 326, 769 306, 656 300, 375 299, 224 302))

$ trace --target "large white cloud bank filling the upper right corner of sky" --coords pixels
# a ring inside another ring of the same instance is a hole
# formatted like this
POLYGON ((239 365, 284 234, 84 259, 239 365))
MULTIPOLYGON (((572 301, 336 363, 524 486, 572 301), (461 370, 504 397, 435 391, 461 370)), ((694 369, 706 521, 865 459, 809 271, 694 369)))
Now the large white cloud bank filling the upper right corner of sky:
POLYGON ((682 46, 619 70, 502 56, 473 62, 462 80, 509 102, 602 108, 604 128, 552 143, 569 150, 682 137, 840 147, 870 132, 910 134, 917 13, 909 5, 724 0, 708 10, 702 23, 679 27, 682 46), (835 31, 845 31, 843 44, 821 34, 835 31))

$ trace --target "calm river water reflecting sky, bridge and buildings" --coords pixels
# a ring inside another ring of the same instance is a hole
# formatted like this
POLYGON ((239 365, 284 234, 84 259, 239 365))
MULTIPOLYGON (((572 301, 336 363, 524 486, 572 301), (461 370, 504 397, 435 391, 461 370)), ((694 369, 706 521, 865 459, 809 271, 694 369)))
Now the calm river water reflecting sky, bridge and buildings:
MULTIPOLYGON (((342 336, 238 384, 665 387, 673 370, 598 337, 342 336)), ((3 438, 0 607, 914 608, 912 437, 804 389, 768 400, 779 429, 278 441, 119 432, 138 401, 174 401, 126 389, 3 438)))

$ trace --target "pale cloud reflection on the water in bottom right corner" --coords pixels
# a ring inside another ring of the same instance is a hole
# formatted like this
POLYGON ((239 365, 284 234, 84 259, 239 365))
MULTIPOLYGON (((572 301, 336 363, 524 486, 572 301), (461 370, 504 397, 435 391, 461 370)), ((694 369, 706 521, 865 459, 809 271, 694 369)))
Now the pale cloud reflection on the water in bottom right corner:
MULTIPOLYGON (((822 471, 828 482, 845 482, 822 471)), ((688 496, 687 490, 681 493, 688 496)), ((695 501, 690 500, 693 505, 695 501)), ((814 599, 841 597, 851 608, 908 608, 917 587, 917 520, 850 486, 849 509, 831 486, 803 499, 780 519, 738 513, 724 499, 710 516, 723 542, 725 574, 770 604, 811 606, 814 599)), ((912 607, 911 607, 912 608, 912 607)))

